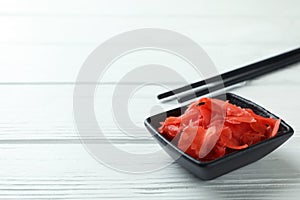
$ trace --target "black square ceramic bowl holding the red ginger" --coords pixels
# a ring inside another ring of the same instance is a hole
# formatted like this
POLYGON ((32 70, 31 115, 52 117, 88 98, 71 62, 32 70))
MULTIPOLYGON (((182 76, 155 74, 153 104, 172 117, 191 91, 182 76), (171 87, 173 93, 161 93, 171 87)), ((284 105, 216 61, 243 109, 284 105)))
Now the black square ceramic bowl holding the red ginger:
MULTIPOLYGON (((219 96, 214 98, 220 98, 219 96)), ((250 108, 256 114, 264 117, 272 117, 278 119, 278 117, 261 106, 244 99, 238 95, 227 93, 226 99, 230 103, 238 105, 242 108, 250 108)), ((201 162, 196 160, 181 151, 176 144, 171 143, 167 138, 162 136, 158 132, 158 128, 161 126, 160 122, 165 121, 166 116, 180 116, 181 113, 185 111, 187 106, 179 107, 164 113, 160 113, 149 117, 145 120, 144 124, 146 128, 151 132, 151 134, 158 140, 160 145, 165 146, 166 152, 176 161, 182 165, 185 169, 196 175, 203 180, 210 180, 228 173, 237 168, 243 167, 250 164, 256 160, 259 160, 275 150, 281 144, 283 144, 287 139, 289 139, 294 131, 287 123, 281 120, 281 124, 278 133, 275 137, 266 139, 257 144, 251 145, 250 147, 239 150, 230 154, 227 154, 221 158, 218 158, 209 162, 201 162)))

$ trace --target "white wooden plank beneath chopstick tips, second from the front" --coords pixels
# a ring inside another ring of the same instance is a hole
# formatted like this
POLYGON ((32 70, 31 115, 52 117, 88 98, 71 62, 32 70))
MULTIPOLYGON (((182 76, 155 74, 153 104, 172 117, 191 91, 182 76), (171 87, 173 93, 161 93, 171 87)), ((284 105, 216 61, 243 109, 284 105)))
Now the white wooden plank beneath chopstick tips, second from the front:
MULTIPOLYGON (((274 80, 274 82, 269 79, 270 82, 267 84, 255 84, 254 81, 243 88, 236 89, 235 93, 278 114, 297 131, 300 129, 299 109, 295 105, 297 105, 300 95, 299 83, 291 82, 289 84, 286 82, 282 85, 285 82, 285 77, 290 74, 288 71, 282 72, 282 82, 279 82, 280 79, 274 80), (285 74, 286 72, 288 73, 285 74)), ((258 80, 258 82, 263 81, 258 80)), ((147 87, 136 93, 128 105, 128 110, 132 122, 140 126, 141 129, 135 129, 129 125, 125 126, 125 131, 141 137, 136 140, 124 134, 114 122, 111 110, 114 85, 99 86, 99 89, 95 96, 97 119, 100 120, 106 137, 116 143, 153 143, 154 141, 149 138, 148 132, 142 128, 143 120, 151 115, 151 108, 155 105, 161 105, 163 106, 162 109, 169 110, 178 106, 176 102, 167 104, 157 102, 155 95, 159 91, 163 91, 162 88, 147 87)), ((0 94, 0 141, 2 143, 78 142, 73 118, 72 85, 2 85, 0 94)), ((124 97, 125 94, 118 95, 120 100, 127 101, 124 97)), ((91 129, 89 132, 90 139, 97 139, 99 142, 103 140, 103 137, 98 136, 96 130, 91 129)), ((295 137, 298 136, 295 135, 295 137)))

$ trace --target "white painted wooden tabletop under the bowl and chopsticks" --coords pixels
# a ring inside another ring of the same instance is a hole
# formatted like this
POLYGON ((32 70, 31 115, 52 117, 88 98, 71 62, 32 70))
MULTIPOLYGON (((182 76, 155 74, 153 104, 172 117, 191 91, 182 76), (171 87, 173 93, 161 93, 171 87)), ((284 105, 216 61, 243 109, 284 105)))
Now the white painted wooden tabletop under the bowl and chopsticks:
MULTIPOLYGON (((262 160, 212 181, 201 181, 176 163, 142 174, 100 164, 79 141, 72 107, 82 63, 113 35, 142 27, 174 30, 200 44, 224 72, 299 46, 299 7, 296 0, 1 0, 0 198, 299 199, 299 64, 234 91, 281 116, 294 136, 262 160)), ((180 61, 152 56, 181 69, 180 61)), ((126 71, 150 58, 133 55, 119 65, 126 71)), ((99 105, 110 105, 118 72, 107 77, 96 97, 99 105)), ((142 125, 149 114, 145 105, 158 103, 159 91, 135 96, 129 109, 135 123, 142 125)), ((101 106, 96 112, 110 114, 101 106)), ((103 128, 125 150, 159 148, 151 138, 128 138, 110 120, 103 128)), ((90 137, 101 144, 97 134, 90 137)))

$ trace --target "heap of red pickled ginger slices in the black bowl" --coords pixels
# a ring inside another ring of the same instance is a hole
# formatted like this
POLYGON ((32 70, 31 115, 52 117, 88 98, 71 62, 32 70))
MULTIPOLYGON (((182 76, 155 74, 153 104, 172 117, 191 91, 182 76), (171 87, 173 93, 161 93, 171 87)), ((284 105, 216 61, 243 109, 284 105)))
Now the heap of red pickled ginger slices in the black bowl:
POLYGON ((228 101, 201 98, 179 117, 161 122, 159 132, 195 159, 211 161, 274 137, 280 119, 265 118, 228 101))

